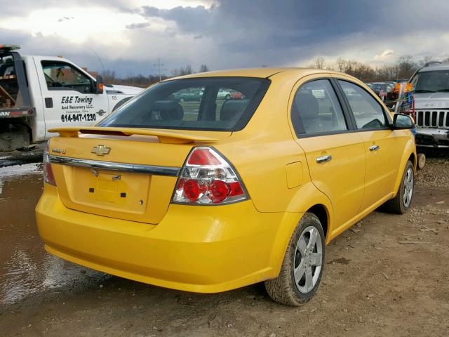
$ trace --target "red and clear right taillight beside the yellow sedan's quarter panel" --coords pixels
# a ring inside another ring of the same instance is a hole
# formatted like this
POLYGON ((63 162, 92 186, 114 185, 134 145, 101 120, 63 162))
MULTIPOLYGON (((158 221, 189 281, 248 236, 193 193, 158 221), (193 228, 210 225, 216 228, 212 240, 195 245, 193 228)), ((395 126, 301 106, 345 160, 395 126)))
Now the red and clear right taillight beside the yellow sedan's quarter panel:
POLYGON ((172 201, 221 205, 246 199, 245 187, 229 162, 211 147, 195 147, 181 169, 172 201))

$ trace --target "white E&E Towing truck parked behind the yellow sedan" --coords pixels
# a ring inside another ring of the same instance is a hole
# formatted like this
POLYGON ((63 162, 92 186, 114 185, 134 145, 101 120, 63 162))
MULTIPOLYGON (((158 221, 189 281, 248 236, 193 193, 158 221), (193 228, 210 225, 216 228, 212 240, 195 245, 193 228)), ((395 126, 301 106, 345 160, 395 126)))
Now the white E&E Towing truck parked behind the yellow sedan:
POLYGON ((0 152, 47 140, 49 128, 93 126, 143 90, 104 85, 65 58, 18 48, 0 45, 0 152))

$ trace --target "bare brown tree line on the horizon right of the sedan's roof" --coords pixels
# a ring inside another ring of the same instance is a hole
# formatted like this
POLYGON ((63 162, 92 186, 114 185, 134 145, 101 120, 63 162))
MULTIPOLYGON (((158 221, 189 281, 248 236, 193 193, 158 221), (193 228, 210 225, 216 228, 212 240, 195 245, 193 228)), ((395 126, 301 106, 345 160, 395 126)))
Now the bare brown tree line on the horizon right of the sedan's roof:
MULTIPOLYGON (((356 60, 337 58, 335 62, 332 62, 319 57, 313 61, 310 67, 337 70, 338 72, 344 72, 364 82, 380 82, 410 79, 416 70, 433 61, 435 60, 430 56, 426 56, 422 60, 414 60, 411 55, 403 55, 391 65, 372 67, 371 65, 356 60)), ((445 58, 444 60, 441 60, 441 62, 449 62, 449 58, 445 58)))

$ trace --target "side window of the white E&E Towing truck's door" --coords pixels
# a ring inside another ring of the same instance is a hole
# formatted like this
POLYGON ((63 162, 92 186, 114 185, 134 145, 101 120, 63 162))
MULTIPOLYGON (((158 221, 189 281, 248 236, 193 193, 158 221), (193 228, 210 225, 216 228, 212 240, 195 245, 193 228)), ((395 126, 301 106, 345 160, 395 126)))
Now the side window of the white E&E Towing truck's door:
POLYGON ((72 65, 58 61, 42 61, 43 76, 48 90, 74 90, 92 93, 91 79, 72 65))

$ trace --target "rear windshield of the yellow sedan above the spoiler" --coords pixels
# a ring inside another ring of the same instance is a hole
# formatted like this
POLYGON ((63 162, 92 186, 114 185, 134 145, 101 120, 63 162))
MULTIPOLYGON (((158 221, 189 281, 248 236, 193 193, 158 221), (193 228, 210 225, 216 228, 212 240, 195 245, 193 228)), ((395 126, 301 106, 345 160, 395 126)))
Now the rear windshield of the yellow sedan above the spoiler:
POLYGON ((99 126, 239 131, 270 81, 254 77, 174 79, 149 87, 99 126))

